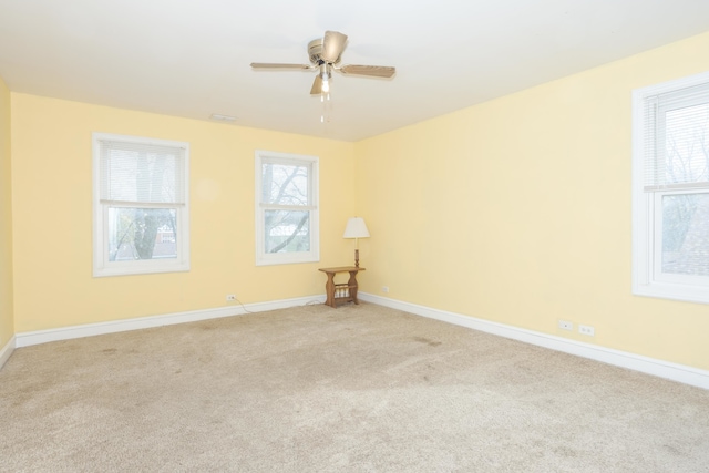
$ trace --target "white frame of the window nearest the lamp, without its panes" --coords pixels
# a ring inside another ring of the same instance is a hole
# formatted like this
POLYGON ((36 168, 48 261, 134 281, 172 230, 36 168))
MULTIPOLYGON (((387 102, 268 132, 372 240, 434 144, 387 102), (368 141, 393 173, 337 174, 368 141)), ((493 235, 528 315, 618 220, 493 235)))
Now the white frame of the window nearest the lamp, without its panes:
POLYGON ((256 266, 288 265, 297 263, 314 263, 320 260, 320 216, 319 216, 319 160, 317 156, 306 156, 273 151, 256 150, 256 266), (305 165, 308 167, 309 177, 309 205, 284 206, 261 202, 263 165, 265 163, 279 163, 286 165, 305 165), (309 215, 309 251, 266 253, 265 226, 267 210, 307 210, 309 215))

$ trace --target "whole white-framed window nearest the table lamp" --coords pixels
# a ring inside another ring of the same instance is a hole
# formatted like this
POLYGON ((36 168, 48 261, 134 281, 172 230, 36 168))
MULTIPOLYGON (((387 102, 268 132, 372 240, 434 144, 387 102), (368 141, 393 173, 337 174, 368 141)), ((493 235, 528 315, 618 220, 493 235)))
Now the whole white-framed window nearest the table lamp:
POLYGON ((318 158, 256 152, 256 264, 318 261, 318 158))

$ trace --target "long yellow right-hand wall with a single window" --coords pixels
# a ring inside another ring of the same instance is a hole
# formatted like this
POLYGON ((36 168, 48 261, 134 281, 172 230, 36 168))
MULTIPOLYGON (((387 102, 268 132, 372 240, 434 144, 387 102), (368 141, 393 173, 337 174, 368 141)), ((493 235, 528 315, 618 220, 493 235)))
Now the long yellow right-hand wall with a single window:
POLYGON ((702 34, 357 143, 362 290, 709 369, 707 306, 630 278, 631 90, 709 70, 707 51, 702 34))

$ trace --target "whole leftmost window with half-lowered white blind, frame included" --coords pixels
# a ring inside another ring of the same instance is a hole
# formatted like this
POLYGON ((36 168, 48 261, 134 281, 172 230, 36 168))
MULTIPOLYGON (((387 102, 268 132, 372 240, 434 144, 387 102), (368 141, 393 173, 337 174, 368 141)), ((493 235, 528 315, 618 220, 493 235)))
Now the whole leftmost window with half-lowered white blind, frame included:
POLYGON ((93 134, 93 275, 189 270, 187 143, 93 134))

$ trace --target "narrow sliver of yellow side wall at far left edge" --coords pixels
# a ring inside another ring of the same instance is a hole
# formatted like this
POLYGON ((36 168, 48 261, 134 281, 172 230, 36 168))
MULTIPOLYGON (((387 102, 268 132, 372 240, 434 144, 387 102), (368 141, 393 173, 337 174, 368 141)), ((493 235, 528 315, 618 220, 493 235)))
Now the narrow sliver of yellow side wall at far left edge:
POLYGON ((0 349, 14 335, 12 315, 12 183, 10 91, 0 78, 0 349))

